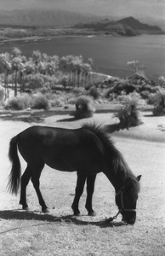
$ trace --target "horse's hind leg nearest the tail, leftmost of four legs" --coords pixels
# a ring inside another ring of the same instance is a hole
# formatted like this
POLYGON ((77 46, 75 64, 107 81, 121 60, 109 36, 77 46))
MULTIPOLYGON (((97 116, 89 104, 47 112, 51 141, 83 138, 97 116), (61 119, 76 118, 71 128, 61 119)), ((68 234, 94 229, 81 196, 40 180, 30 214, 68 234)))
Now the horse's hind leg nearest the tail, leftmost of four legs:
POLYGON ((21 177, 21 183, 20 183, 20 205, 22 205, 23 210, 28 210, 28 205, 26 203, 26 186, 29 183, 30 178, 31 178, 31 168, 27 166, 26 171, 21 177))

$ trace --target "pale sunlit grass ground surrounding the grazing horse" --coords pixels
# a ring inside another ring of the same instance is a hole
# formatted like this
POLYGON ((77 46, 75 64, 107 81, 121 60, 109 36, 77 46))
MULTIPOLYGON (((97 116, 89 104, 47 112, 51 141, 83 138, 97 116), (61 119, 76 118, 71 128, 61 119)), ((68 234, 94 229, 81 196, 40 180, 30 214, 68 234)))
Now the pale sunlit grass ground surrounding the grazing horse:
MULTIPOLYGON (((117 148, 122 151, 134 173, 142 174, 142 179, 136 223, 134 226, 111 226, 100 222, 117 213, 114 189, 101 173, 96 179, 94 191, 94 209, 97 212, 94 218, 88 217, 84 208, 85 190, 80 201, 83 216, 75 218, 71 215, 76 173, 56 172, 48 166, 42 173, 41 189, 51 210, 50 213, 40 212, 37 195, 31 183, 27 190, 27 201, 31 211, 20 210, 19 197, 9 195, 5 190, 9 173, 7 152, 9 138, 28 125, 11 121, 10 124, 12 125, 9 125, 8 121, 1 122, 0 127, 1 134, 3 132, 0 144, 1 256, 164 255, 165 160, 163 143, 148 143, 140 140, 134 143, 134 140, 116 138, 117 148)), ((73 126, 75 124, 77 123, 72 123, 73 126)), ((25 168, 24 163, 23 168, 25 168)))

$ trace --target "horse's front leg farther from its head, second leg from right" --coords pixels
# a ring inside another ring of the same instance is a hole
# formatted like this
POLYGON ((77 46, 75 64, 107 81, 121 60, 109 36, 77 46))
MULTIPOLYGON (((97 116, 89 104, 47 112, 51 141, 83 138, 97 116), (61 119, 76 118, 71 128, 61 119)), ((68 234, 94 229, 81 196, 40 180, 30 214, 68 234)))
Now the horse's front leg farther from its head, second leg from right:
POLYGON ((86 181, 86 176, 82 172, 77 172, 77 187, 75 189, 76 195, 71 205, 71 208, 75 216, 81 215, 78 209, 78 203, 81 195, 83 194, 83 187, 84 187, 85 181, 86 181))

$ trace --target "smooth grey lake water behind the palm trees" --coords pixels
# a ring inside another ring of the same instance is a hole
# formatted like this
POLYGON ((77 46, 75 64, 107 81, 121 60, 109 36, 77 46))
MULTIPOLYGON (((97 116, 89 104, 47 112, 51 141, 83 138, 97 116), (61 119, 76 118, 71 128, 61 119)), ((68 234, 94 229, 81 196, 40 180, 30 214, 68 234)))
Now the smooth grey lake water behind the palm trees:
POLYGON ((39 49, 48 55, 83 55, 94 59, 94 71, 125 78, 132 74, 128 61, 145 65, 150 79, 165 76, 165 35, 124 38, 113 36, 52 38, 0 44, 0 53, 19 47, 23 55, 39 49))

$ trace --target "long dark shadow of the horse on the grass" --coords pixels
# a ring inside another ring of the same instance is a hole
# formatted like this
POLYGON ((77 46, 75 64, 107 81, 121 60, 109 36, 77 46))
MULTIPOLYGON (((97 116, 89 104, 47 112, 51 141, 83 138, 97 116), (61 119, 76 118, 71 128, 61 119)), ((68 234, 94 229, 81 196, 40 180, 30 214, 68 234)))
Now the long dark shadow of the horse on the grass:
MULTIPOLYGON (((65 215, 65 216, 57 217, 49 213, 45 214, 43 212, 26 212, 23 210, 0 211, 0 220, 2 219, 37 220, 37 221, 43 221, 44 222, 43 224, 48 224, 48 223, 65 223, 65 224, 77 224, 77 225, 91 224, 91 225, 100 226, 100 228, 125 225, 125 223, 123 222, 111 223, 109 218, 101 221, 84 221, 84 220, 81 220, 80 217, 77 218, 74 215, 65 215)), ((37 226, 37 225, 40 225, 40 224, 31 224, 31 226, 37 226)), ((19 229, 19 228, 14 228, 14 229, 19 229)), ((7 232, 7 230, 0 232, 0 234, 5 232, 7 232)))

